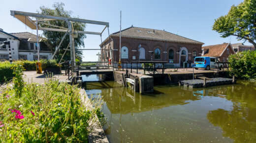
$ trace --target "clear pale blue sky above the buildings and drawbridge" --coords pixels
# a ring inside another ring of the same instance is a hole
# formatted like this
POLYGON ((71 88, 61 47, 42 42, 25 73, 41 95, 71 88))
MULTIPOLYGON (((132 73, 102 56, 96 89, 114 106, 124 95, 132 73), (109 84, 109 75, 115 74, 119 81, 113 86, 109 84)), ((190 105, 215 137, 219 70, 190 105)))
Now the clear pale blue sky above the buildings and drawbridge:
MULTIPOLYGON (((212 30, 214 20, 228 13, 232 5, 243 0, 1 0, 0 28, 5 32, 32 32, 35 30, 13 18, 10 10, 36 13, 40 6, 52 7, 54 2, 63 2, 65 10, 81 19, 109 23, 109 33, 120 30, 120 11, 122 29, 135 27, 165 30, 199 42, 203 46, 243 43, 236 37, 227 38, 212 30)), ((101 32, 103 26, 87 24, 86 31, 101 32)), ((42 33, 42 32, 39 32, 42 33)), ((99 48, 99 35, 86 35, 84 48, 99 48)), ((108 36, 107 29, 102 41, 108 36)), ((245 45, 252 45, 248 42, 245 45)), ((83 61, 97 61, 99 50, 84 50, 83 61)))

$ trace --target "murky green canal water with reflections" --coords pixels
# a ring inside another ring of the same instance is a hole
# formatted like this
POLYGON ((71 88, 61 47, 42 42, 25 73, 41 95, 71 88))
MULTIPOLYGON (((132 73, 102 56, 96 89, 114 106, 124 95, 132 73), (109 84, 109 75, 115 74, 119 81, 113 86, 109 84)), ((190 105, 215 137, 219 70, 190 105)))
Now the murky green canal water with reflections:
POLYGON ((157 86, 139 95, 113 82, 87 84, 101 94, 110 143, 256 143, 256 83, 208 88, 157 86))

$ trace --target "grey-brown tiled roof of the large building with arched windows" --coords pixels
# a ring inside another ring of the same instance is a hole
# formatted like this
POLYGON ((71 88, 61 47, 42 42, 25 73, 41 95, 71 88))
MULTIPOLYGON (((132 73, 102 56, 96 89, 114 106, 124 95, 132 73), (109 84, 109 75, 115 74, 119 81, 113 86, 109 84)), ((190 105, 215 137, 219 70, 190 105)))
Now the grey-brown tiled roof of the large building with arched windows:
MULTIPOLYGON (((111 34, 110 36, 120 36, 120 31, 115 32, 115 33, 111 34)), ((202 42, 198 42, 198 41, 186 38, 186 37, 182 37, 182 36, 179 36, 179 35, 164 31, 164 30, 140 28, 140 27, 133 27, 133 26, 122 30, 121 31, 121 36, 122 37, 128 37, 128 38, 149 39, 149 40, 159 40, 159 41, 169 41, 169 42, 181 42, 181 43, 192 43, 192 44, 200 44, 200 45, 204 44, 202 42)), ((108 40, 108 38, 106 40, 108 40)))

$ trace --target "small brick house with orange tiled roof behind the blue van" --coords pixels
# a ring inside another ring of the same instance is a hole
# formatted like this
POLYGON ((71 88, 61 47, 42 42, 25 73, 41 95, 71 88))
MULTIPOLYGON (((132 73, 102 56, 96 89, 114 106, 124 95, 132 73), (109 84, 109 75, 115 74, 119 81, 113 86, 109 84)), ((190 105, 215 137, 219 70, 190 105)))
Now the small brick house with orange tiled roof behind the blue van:
POLYGON ((220 62, 227 62, 230 54, 235 54, 230 43, 202 47, 202 56, 216 57, 220 62))

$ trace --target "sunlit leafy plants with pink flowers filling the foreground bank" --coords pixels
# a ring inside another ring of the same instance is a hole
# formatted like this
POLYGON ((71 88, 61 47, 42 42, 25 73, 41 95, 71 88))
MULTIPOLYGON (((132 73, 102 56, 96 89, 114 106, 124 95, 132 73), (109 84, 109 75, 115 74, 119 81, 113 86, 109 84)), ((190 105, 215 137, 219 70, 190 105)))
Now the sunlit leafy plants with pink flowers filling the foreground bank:
POLYGON ((20 97, 15 88, 0 89, 0 143, 87 142, 99 106, 87 110, 76 86, 57 80, 25 84, 20 97), (19 110, 24 119, 16 118, 19 110), (33 116, 34 114, 34 116, 33 116))

